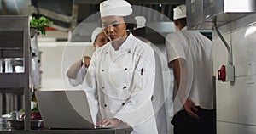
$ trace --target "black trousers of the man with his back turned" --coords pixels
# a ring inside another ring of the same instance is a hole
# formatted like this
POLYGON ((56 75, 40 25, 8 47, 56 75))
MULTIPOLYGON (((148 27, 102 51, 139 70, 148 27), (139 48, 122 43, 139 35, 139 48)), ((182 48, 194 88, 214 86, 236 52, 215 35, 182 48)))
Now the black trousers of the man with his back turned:
POLYGON ((177 112, 172 118, 174 134, 216 134, 215 110, 197 107, 199 119, 189 116, 185 110, 177 112))

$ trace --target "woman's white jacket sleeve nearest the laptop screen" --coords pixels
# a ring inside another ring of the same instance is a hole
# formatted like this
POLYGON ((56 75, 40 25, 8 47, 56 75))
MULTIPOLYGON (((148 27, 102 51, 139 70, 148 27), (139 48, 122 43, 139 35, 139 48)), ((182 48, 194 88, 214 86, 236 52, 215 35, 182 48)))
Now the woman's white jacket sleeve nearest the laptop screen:
POLYGON ((94 54, 90 60, 90 66, 87 70, 87 74, 84 77, 83 90, 86 92, 88 103, 90 106, 90 114, 93 123, 96 125, 96 116, 99 110, 98 99, 96 92, 96 54, 94 54))

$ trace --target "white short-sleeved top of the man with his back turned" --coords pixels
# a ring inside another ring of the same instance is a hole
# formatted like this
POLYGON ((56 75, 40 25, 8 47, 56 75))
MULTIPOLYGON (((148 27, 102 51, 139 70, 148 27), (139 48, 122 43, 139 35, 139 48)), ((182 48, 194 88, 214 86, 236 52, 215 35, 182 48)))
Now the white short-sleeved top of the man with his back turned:
MULTIPOLYGON (((191 88, 188 94, 195 105, 203 109, 213 109, 212 82, 212 42, 198 31, 177 31, 166 36, 168 63, 175 59, 185 59, 190 70, 191 88), (191 72, 192 71, 192 72, 191 72)), ((176 84, 176 83, 175 83, 176 84)), ((177 94, 177 87, 173 95, 177 94)), ((176 97, 174 113, 183 109, 176 97)))

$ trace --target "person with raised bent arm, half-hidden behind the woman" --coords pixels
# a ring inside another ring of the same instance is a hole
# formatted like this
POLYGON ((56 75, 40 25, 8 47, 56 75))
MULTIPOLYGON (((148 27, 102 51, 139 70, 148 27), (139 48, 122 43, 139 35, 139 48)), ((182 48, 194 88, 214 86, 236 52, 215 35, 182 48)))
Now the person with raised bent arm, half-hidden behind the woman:
POLYGON ((96 48, 102 47, 108 42, 108 37, 104 34, 102 28, 97 27, 91 34, 91 44, 85 48, 84 57, 72 64, 67 70, 67 77, 72 86, 78 86, 83 83, 84 76, 90 65, 90 59, 96 48))

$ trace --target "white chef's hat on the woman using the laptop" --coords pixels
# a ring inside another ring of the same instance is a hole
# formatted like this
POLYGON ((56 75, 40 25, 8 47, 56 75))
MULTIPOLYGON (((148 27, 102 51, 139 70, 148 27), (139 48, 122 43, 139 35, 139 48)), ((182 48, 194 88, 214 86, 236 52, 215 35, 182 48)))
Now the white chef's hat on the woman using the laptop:
POLYGON ((125 0, 107 0, 100 4, 101 16, 128 16, 132 13, 131 4, 125 0))

